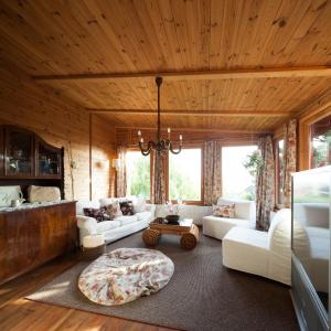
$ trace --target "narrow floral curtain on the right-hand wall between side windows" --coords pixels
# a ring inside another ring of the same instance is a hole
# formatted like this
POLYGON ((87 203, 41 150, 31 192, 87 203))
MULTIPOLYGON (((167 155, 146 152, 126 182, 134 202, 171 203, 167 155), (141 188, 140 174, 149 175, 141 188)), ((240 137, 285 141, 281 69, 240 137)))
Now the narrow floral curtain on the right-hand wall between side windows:
POLYGON ((291 205, 291 173, 297 170, 297 120, 291 119, 284 126, 284 153, 282 153, 282 206, 291 205))

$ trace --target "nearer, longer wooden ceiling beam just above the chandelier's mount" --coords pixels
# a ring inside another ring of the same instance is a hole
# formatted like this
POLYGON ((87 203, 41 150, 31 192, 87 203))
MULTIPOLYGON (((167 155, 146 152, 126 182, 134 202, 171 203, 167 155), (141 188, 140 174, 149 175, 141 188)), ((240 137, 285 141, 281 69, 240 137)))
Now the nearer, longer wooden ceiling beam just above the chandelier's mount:
POLYGON ((293 78, 293 77, 330 77, 331 66, 308 67, 273 67, 227 71, 191 71, 191 72, 159 72, 159 73, 108 73, 108 74, 78 74, 32 76, 36 82, 121 82, 132 79, 151 79, 162 76, 164 82, 173 81, 211 81, 211 79, 247 79, 247 78, 293 78))

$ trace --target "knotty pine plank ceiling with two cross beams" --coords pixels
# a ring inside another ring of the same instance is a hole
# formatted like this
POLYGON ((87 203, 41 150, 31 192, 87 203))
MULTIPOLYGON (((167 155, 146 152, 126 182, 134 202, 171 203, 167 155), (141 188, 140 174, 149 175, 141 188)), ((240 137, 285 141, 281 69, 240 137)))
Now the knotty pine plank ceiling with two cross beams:
POLYGON ((331 88, 331 1, 0 1, 0 60, 117 127, 273 130, 331 88))

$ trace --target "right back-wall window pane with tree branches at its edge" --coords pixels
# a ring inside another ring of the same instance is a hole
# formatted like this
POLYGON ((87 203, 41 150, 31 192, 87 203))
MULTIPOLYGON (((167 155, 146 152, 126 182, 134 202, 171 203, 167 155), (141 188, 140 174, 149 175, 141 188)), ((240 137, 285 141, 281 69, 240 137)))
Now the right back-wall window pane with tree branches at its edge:
POLYGON ((257 146, 222 148, 222 195, 255 199, 257 146))

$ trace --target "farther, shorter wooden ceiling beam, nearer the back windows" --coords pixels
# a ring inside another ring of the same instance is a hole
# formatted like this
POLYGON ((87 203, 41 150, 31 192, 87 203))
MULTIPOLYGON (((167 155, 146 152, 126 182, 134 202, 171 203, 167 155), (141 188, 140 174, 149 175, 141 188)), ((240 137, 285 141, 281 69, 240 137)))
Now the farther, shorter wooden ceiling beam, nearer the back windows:
MULTIPOLYGON (((156 109, 87 109, 92 114, 106 114, 106 115, 153 115, 157 116, 156 109)), ((161 115, 167 116, 210 116, 210 117, 288 117, 291 115, 289 111, 275 111, 275 110, 162 110, 161 115)))

